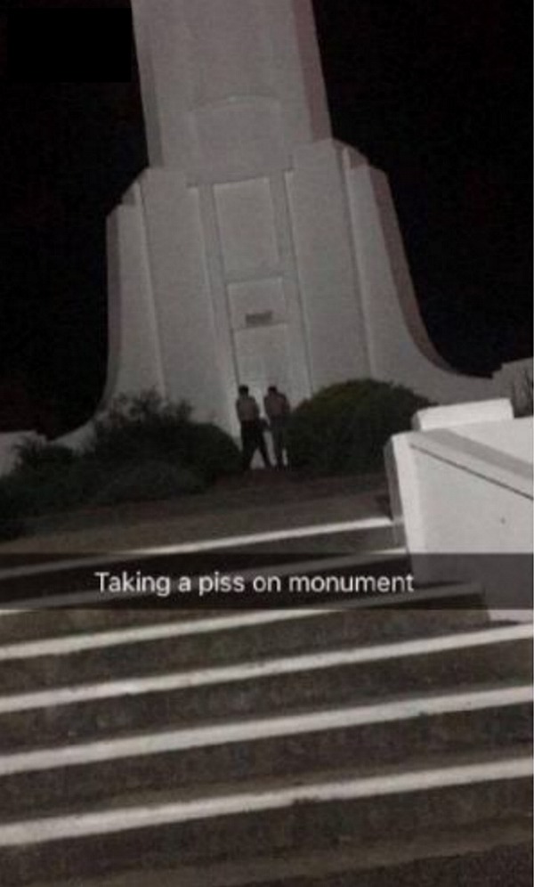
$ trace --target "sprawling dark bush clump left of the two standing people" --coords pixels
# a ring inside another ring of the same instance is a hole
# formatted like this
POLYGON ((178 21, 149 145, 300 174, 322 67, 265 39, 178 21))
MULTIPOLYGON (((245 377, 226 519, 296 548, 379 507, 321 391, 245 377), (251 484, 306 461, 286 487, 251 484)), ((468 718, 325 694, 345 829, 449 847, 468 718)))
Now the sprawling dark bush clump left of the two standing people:
POLYGON ((79 452, 33 438, 19 446, 15 467, 0 478, 0 538, 20 535, 24 518, 201 492, 239 465, 231 437, 193 421, 188 404, 152 392, 122 397, 79 452))

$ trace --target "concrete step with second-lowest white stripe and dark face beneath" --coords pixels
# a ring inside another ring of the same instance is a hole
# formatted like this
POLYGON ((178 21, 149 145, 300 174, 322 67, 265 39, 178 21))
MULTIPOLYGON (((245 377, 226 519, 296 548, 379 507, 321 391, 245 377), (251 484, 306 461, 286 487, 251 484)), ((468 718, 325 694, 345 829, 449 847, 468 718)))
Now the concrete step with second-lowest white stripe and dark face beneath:
POLYGON ((530 749, 532 690, 524 687, 386 697, 380 704, 174 731, 0 756, 0 818, 129 802, 139 793, 217 793, 263 778, 392 766, 436 766, 445 754, 530 749))

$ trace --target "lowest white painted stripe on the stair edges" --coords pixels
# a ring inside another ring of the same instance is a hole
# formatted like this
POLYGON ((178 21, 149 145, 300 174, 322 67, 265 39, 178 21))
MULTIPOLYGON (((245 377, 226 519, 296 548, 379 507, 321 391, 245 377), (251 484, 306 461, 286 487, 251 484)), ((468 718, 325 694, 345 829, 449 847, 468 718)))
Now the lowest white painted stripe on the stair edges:
POLYGON ((419 769, 390 773, 387 776, 360 777, 314 782, 262 789, 256 785, 249 792, 236 792, 218 797, 142 807, 99 810, 97 813, 47 817, 0 826, 0 847, 81 838, 90 834, 125 832, 134 828, 150 828, 171 823, 191 822, 269 810, 286 810, 297 803, 328 803, 401 793, 428 792, 441 788, 479 783, 528 779, 534 769, 530 757, 516 757, 453 767, 419 769))

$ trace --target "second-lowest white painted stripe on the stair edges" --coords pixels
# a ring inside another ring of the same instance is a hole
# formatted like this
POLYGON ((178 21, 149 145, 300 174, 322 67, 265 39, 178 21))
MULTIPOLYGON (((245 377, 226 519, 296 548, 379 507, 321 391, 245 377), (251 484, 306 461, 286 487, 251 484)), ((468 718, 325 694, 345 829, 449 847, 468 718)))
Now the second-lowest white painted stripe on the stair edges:
POLYGON ((0 777, 13 773, 75 767, 99 761, 120 761, 150 754, 210 748, 230 743, 255 742, 283 736, 302 736, 327 730, 348 729, 368 724, 387 724, 455 712, 481 712, 513 705, 529 704, 532 688, 510 687, 470 693, 420 696, 383 702, 379 705, 317 710, 305 714, 284 715, 257 720, 235 720, 205 727, 161 731, 79 743, 35 752, 0 755, 0 777))

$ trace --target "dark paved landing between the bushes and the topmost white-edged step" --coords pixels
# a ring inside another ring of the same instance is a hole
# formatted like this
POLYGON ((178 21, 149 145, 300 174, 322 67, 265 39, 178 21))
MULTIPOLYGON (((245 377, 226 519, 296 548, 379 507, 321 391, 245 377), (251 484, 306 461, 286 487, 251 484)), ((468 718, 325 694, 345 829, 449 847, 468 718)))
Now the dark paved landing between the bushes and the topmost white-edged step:
POLYGON ((40 518, 0 553, 98 552, 384 516, 383 476, 295 479, 258 470, 207 492, 40 518))

